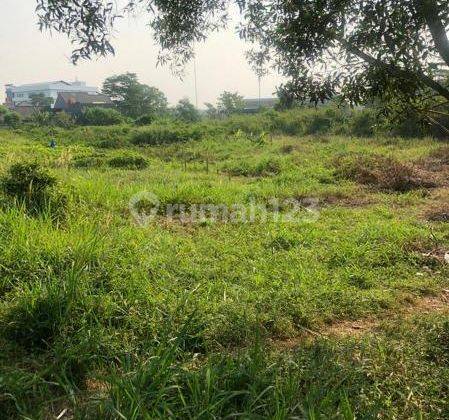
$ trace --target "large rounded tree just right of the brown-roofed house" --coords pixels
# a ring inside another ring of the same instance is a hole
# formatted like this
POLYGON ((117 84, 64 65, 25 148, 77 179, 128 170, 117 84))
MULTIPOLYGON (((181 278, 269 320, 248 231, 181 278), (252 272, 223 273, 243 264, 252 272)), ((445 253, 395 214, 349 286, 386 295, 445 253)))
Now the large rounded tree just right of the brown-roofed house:
POLYGON ((165 95, 155 87, 140 83, 135 73, 108 77, 102 91, 129 117, 137 118, 144 114, 156 116, 167 110, 165 95))

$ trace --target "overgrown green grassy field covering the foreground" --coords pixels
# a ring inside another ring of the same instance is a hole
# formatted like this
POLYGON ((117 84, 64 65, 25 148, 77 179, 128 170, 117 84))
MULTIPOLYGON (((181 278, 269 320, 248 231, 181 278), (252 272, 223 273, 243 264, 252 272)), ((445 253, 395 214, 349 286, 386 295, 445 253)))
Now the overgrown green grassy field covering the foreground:
POLYGON ((111 130, 0 131, 1 417, 449 417, 447 145, 111 130), (56 178, 33 208, 26 161, 56 178))

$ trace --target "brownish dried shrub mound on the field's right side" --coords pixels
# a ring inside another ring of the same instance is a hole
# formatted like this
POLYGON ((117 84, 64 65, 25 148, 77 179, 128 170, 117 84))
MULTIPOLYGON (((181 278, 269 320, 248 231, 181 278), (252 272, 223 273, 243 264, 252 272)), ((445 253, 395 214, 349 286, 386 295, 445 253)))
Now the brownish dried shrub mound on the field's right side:
POLYGON ((335 161, 336 176, 384 191, 406 192, 430 188, 435 184, 424 179, 409 164, 381 155, 346 155, 335 161))

